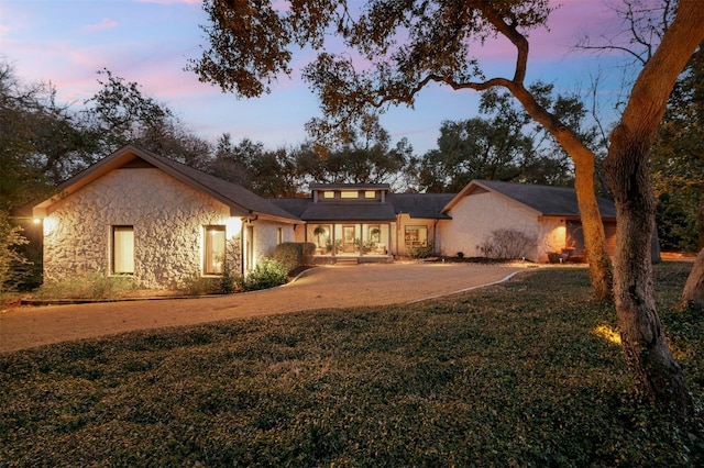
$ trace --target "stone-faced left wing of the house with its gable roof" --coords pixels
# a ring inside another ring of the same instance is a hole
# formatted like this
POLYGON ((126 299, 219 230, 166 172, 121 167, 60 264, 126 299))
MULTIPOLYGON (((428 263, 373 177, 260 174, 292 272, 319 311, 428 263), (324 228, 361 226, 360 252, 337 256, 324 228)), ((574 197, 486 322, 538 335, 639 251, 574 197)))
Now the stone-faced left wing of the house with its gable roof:
POLYGON ((300 221, 244 188, 128 145, 34 205, 44 279, 130 275, 168 289, 244 272, 300 221))

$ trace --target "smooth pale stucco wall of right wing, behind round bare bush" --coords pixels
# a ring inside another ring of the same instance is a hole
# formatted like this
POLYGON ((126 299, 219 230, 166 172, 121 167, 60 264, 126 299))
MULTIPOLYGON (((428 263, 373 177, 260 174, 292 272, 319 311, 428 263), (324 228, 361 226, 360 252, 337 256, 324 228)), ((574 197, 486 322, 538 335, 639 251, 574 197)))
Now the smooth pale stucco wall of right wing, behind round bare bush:
POLYGON ((538 220, 535 211, 492 192, 472 193, 452 208, 452 221, 442 224, 442 250, 446 255, 462 252, 468 257, 482 257, 481 247, 492 232, 510 229, 536 238, 535 248, 525 254, 534 261, 546 261, 547 252, 564 247, 564 222, 538 220), (560 238, 561 237, 561 238, 560 238))

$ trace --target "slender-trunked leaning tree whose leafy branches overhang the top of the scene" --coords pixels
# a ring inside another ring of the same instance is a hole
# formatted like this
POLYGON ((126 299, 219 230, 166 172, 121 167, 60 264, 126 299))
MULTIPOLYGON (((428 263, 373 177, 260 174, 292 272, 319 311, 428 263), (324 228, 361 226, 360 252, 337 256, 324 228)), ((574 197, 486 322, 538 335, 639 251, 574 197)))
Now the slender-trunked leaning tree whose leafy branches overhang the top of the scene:
MULTIPOLYGON (((360 12, 346 1, 273 2, 212 0, 205 3, 209 48, 189 68, 201 80, 242 97, 271 92, 279 74, 290 74, 293 45, 318 51, 304 69, 321 101, 324 119, 309 129, 324 141, 336 131, 346 135, 354 121, 391 104, 413 105, 426 86, 454 90, 508 90, 530 116, 543 125, 574 161, 575 188, 596 298, 612 294, 612 270, 604 226, 594 191, 594 153, 575 132, 549 112, 526 88, 527 32, 543 26, 549 0, 392 1, 370 0, 360 12), (516 48, 510 78, 485 79, 473 48, 502 36, 516 48), (354 54, 328 52, 334 37, 354 54)), ((339 133, 338 133, 339 135, 339 133)))

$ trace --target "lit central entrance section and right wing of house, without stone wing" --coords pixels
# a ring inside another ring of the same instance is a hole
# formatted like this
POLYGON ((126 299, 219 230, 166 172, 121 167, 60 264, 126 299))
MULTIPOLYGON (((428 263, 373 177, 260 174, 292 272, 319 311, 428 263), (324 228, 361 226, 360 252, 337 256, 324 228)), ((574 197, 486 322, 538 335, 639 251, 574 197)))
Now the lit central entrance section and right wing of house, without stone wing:
MULTIPOLYGON (((474 180, 457 194, 392 193, 384 183, 312 183, 310 191, 307 199, 272 203, 305 223, 296 241, 316 244, 318 263, 420 254, 483 257, 498 230, 530 239, 521 250, 526 259, 584 258, 576 193, 570 188, 474 180)), ((608 200, 598 204, 613 253, 616 211, 608 200)))

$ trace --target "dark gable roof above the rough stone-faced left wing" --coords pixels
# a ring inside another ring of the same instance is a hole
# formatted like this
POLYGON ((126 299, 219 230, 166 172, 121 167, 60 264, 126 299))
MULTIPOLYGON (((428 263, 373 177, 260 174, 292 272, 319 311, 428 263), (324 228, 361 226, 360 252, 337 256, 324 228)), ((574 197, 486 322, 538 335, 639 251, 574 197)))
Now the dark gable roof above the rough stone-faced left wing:
POLYGON ((175 179, 180 180, 193 189, 222 202, 230 208, 230 215, 232 216, 254 215, 288 223, 299 221, 287 211, 275 207, 270 203, 268 200, 252 193, 244 187, 228 182, 227 180, 220 179, 216 176, 211 176, 194 169, 193 167, 165 158, 136 145, 123 146, 110 156, 99 160, 86 170, 58 186, 56 194, 34 205, 34 215, 46 215, 51 205, 57 201, 75 193, 109 171, 130 164, 135 159, 141 159, 148 165, 163 170, 175 179))

